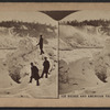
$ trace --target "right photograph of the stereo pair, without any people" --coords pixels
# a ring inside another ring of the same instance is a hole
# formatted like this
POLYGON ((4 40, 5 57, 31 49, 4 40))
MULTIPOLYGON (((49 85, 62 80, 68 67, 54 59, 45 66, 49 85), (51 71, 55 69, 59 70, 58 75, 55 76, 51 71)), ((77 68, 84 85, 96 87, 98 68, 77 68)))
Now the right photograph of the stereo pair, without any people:
POLYGON ((59 95, 110 95, 110 11, 59 21, 59 95))

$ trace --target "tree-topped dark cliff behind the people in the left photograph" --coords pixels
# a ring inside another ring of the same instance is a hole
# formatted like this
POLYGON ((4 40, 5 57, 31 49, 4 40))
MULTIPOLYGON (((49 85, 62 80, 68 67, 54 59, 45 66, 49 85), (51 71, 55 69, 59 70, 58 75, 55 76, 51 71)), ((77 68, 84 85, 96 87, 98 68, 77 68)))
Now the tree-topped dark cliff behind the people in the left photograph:
POLYGON ((18 47, 20 40, 24 37, 37 41, 41 34, 47 44, 47 38, 57 37, 57 26, 22 21, 0 22, 0 48, 18 47))

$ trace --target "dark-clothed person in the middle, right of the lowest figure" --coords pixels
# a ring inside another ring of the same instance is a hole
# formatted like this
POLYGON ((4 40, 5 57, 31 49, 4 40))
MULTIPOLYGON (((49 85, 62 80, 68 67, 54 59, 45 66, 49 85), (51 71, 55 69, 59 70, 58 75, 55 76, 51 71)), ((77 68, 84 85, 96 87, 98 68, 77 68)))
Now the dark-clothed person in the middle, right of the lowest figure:
POLYGON ((48 74, 48 69, 50 69, 50 62, 47 61, 47 57, 45 57, 43 66, 44 66, 44 68, 43 68, 43 73, 42 73, 41 78, 43 78, 44 74, 46 74, 45 78, 47 78, 47 74, 48 74))

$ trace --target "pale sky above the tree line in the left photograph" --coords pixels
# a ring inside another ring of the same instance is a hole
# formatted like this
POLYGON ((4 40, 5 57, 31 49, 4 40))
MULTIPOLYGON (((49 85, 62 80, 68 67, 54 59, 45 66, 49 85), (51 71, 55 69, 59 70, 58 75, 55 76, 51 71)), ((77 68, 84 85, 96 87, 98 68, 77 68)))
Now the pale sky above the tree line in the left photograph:
POLYGON ((40 22, 43 24, 46 23, 46 24, 57 25, 57 22, 55 20, 53 20, 52 18, 42 12, 32 12, 32 11, 0 12, 0 21, 10 21, 10 20, 40 22))

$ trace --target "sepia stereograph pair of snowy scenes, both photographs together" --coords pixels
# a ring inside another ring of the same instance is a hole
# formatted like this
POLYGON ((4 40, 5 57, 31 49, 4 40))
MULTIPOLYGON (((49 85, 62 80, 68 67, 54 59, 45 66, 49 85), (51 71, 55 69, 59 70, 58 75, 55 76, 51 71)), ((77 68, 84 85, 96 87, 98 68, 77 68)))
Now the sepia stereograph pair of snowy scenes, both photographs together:
POLYGON ((0 11, 1 98, 109 95, 110 11, 0 11))

